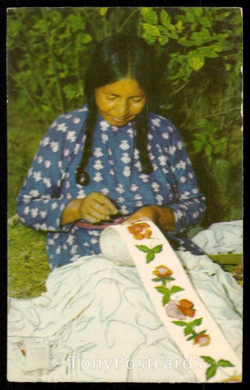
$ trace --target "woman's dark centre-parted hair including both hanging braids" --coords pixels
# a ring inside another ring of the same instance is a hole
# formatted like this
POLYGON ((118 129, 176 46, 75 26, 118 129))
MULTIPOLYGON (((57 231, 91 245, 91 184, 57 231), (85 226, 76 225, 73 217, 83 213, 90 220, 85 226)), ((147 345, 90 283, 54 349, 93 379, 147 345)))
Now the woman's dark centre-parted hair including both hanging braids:
MULTIPOLYGON (((93 59, 85 74, 85 95, 89 113, 85 131, 85 145, 80 164, 76 170, 76 182, 89 184, 89 175, 85 171, 89 157, 92 156, 92 134, 97 118, 94 92, 106 84, 122 78, 135 79, 146 93, 147 107, 152 106, 156 91, 157 69, 152 47, 136 36, 117 34, 102 40, 96 48, 93 59)), ((147 108, 135 117, 137 147, 143 173, 153 171, 147 153, 148 112, 147 108)))

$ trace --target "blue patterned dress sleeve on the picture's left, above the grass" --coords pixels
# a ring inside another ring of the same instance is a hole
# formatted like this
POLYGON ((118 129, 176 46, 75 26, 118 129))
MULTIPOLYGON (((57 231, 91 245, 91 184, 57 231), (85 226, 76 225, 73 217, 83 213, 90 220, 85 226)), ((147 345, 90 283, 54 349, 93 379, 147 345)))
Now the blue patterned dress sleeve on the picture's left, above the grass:
MULTIPOLYGON (((72 200, 60 197, 62 148, 64 133, 50 127, 42 138, 39 149, 17 197, 17 212, 20 221, 34 230, 68 232, 74 223, 60 227, 60 217, 72 200)), ((58 126, 57 126, 58 128, 58 126)))

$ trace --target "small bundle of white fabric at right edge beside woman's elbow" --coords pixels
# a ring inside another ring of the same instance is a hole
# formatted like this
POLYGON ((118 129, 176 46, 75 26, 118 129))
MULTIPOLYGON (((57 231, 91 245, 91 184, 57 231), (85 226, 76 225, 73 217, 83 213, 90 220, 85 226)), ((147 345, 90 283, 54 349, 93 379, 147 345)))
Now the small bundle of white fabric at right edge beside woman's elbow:
POLYGON ((243 221, 214 223, 196 234, 192 241, 207 254, 240 254, 243 252, 243 221))

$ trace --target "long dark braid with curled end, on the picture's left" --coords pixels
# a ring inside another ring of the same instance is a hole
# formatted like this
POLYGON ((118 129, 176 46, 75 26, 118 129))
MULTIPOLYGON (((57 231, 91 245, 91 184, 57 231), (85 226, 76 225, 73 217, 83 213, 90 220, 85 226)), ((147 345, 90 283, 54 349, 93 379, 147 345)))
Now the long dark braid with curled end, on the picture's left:
POLYGON ((82 186, 86 186, 89 184, 89 175, 85 171, 85 168, 88 164, 89 157, 92 156, 92 140, 93 140, 93 132, 94 132, 94 127, 95 127, 95 122, 96 122, 96 107, 95 103, 91 102, 88 104, 89 107, 89 113, 87 117, 87 126, 85 130, 85 144, 80 160, 80 164, 78 165, 76 169, 76 182, 82 186))

